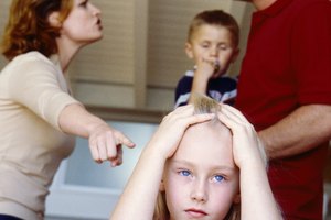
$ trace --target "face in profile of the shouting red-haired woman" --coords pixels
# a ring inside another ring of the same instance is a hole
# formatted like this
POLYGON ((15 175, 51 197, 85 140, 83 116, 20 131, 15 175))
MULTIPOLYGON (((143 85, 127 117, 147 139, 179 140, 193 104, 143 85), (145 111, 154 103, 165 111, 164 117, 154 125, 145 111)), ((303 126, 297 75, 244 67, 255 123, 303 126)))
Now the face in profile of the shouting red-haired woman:
POLYGON ((103 37, 100 10, 88 0, 74 0, 73 9, 62 25, 62 36, 76 45, 103 37))

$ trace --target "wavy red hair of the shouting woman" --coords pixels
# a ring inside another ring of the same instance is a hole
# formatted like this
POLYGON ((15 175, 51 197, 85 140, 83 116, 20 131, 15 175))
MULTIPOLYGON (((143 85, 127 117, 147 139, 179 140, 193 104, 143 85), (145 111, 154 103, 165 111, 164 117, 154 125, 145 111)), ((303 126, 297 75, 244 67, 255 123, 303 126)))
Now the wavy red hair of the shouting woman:
POLYGON ((49 22, 58 12, 60 23, 70 14, 73 0, 12 0, 8 23, 1 42, 1 53, 8 58, 38 51, 45 56, 57 52, 55 38, 60 29, 49 22))

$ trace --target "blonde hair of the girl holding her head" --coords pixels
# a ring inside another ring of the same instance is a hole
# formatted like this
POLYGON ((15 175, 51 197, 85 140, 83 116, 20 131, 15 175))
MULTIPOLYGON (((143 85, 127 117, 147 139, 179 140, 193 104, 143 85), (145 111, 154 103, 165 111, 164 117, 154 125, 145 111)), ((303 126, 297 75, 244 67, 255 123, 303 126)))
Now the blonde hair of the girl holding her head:
MULTIPOLYGON (((212 99, 207 96, 202 96, 202 95, 196 95, 196 94, 193 94, 192 96, 193 96, 193 106, 194 106, 195 114, 215 113, 215 118, 211 121, 211 123, 216 123, 216 122, 222 123, 217 118, 217 112, 220 112, 221 108, 222 108, 217 101, 215 101, 214 99, 212 99)), ((260 144, 258 147, 259 147, 263 161, 265 162, 265 165, 267 166, 267 158, 266 158, 265 151, 260 144)), ((159 191, 153 220, 169 220, 169 219, 170 219, 170 213, 167 208, 166 193, 159 191)), ((232 208, 229 209, 229 211, 227 212, 227 215, 225 217, 225 220, 241 220, 241 204, 233 204, 232 208)))

